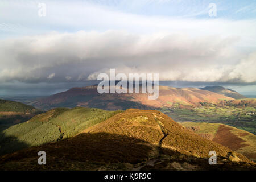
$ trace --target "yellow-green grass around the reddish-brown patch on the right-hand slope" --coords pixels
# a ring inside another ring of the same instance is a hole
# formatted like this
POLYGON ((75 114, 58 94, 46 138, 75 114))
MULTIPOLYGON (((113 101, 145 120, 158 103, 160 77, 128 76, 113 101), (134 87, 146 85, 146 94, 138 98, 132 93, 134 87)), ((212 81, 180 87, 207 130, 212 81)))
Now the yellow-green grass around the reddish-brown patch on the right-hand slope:
MULTIPOLYGON (((214 136, 216 135, 220 125, 222 125, 222 124, 218 124, 218 123, 196 123, 196 122, 181 122, 180 124, 185 127, 199 126, 200 130, 197 131, 196 133, 212 134, 214 136)), ((255 151, 256 151, 256 136, 247 131, 237 129, 236 127, 232 127, 232 126, 228 126, 228 125, 224 125, 224 126, 227 127, 232 134, 236 135, 236 137, 244 140, 244 142, 242 142, 242 144, 244 144, 246 146, 238 148, 235 151, 248 156, 248 158, 250 158, 251 160, 256 160, 255 156, 252 155, 252 154, 255 155, 255 151)), ((229 137, 229 136, 226 136, 226 137, 229 137)), ((230 137, 232 137, 232 136, 230 136, 230 137)), ((213 140, 214 140, 214 138, 213 138, 213 140)), ((233 140, 233 142, 234 142, 234 140, 233 140)))

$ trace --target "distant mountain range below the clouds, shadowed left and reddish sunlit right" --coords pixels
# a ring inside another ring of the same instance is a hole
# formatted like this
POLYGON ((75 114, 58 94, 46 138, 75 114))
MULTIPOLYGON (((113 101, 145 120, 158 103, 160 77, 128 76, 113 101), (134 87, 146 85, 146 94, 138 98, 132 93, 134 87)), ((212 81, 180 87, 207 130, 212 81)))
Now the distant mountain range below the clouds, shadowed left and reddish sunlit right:
POLYGON ((66 92, 31 102, 31 105, 41 109, 54 107, 95 107, 99 109, 158 109, 161 107, 195 107, 200 103, 217 104, 221 101, 234 100, 208 90, 196 88, 172 88, 159 86, 159 98, 148 100, 148 94, 99 94, 97 86, 72 88, 66 92))

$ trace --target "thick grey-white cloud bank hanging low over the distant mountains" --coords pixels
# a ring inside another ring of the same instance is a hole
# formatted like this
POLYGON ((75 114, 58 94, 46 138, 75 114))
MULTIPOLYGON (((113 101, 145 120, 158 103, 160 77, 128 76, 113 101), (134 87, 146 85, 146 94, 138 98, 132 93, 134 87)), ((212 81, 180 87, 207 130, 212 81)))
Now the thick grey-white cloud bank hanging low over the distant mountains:
POLYGON ((234 36, 126 31, 51 32, 0 40, 0 82, 96 80, 121 73, 159 72, 162 81, 256 81, 256 52, 242 52, 234 36))

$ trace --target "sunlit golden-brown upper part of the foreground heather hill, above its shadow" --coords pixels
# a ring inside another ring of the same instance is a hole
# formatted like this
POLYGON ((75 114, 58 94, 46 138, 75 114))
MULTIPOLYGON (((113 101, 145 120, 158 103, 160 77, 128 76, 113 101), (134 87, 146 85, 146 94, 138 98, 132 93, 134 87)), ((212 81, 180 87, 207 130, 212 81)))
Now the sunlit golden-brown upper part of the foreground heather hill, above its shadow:
MULTIPOLYGON (((101 132, 122 134, 154 145, 158 145, 162 139, 163 148, 199 158, 208 157, 209 151, 216 151, 218 156, 225 157, 230 151, 218 143, 199 137, 156 110, 129 109, 84 131, 84 133, 101 132)), ((240 154, 237 156, 249 162, 245 156, 240 154)))

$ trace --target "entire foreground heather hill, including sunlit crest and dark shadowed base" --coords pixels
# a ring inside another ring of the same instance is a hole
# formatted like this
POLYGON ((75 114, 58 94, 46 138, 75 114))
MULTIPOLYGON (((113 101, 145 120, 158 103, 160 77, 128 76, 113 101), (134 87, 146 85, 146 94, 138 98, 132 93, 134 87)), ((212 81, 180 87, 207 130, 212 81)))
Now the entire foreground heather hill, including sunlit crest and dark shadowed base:
POLYGON ((156 110, 129 109, 75 137, 0 156, 2 170, 255 170, 241 154, 201 138, 156 110), (47 165, 38 165, 38 151, 47 165), (208 152, 216 151, 217 165, 208 152))

